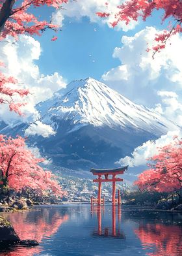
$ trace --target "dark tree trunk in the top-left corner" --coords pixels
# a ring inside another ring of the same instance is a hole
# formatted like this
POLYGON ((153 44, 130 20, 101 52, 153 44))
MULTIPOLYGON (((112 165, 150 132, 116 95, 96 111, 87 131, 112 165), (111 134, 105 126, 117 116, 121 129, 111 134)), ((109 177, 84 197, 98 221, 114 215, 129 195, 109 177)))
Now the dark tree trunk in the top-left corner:
POLYGON ((11 15, 12 7, 15 3, 15 0, 6 0, 5 3, 3 3, 3 7, 0 11, 0 33, 3 31, 6 20, 11 15))

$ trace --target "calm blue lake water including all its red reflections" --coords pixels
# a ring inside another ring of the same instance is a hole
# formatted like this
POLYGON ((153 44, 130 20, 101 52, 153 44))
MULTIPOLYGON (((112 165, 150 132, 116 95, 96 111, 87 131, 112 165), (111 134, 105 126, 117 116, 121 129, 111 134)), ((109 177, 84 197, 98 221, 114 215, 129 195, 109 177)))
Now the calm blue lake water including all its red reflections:
POLYGON ((2 256, 182 255, 182 213, 64 204, 1 215, 21 239, 40 242, 36 248, 1 248, 2 256))

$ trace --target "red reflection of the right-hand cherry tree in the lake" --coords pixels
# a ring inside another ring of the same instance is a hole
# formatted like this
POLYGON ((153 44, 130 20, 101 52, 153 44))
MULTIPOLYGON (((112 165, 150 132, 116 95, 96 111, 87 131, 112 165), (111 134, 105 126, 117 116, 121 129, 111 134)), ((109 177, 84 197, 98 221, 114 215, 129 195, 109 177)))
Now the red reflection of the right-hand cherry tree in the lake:
POLYGON ((143 246, 154 246, 155 252, 147 253, 149 256, 181 256, 182 229, 179 226, 166 226, 163 224, 145 224, 135 230, 143 246))

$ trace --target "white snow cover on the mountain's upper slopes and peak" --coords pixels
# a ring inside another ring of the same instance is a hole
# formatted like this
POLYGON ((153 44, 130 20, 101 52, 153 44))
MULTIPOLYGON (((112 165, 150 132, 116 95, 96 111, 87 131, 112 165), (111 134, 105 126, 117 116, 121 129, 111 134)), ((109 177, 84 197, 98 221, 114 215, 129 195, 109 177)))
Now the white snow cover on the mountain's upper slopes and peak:
POLYGON ((74 80, 66 88, 38 104, 45 123, 51 118, 72 120, 74 124, 109 127, 135 127, 155 132, 176 129, 176 125, 166 118, 126 99, 105 84, 86 78, 74 80))

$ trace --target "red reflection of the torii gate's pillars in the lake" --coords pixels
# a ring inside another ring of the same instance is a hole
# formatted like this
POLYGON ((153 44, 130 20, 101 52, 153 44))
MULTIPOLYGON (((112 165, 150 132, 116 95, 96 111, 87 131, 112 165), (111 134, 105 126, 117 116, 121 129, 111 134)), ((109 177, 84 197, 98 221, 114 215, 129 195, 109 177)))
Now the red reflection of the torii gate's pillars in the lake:
POLYGON ((110 206, 112 207, 112 227, 103 227, 102 228, 102 217, 104 216, 105 206, 91 205, 91 216, 97 216, 98 219, 98 228, 95 228, 92 232, 93 236, 104 236, 104 237, 113 237, 113 238, 125 238, 125 235, 120 231, 121 223, 121 207, 120 206, 110 206), (117 215, 117 216, 116 216, 117 215), (116 223, 116 217, 118 221, 116 223), (117 226, 116 226, 117 224, 117 226))

